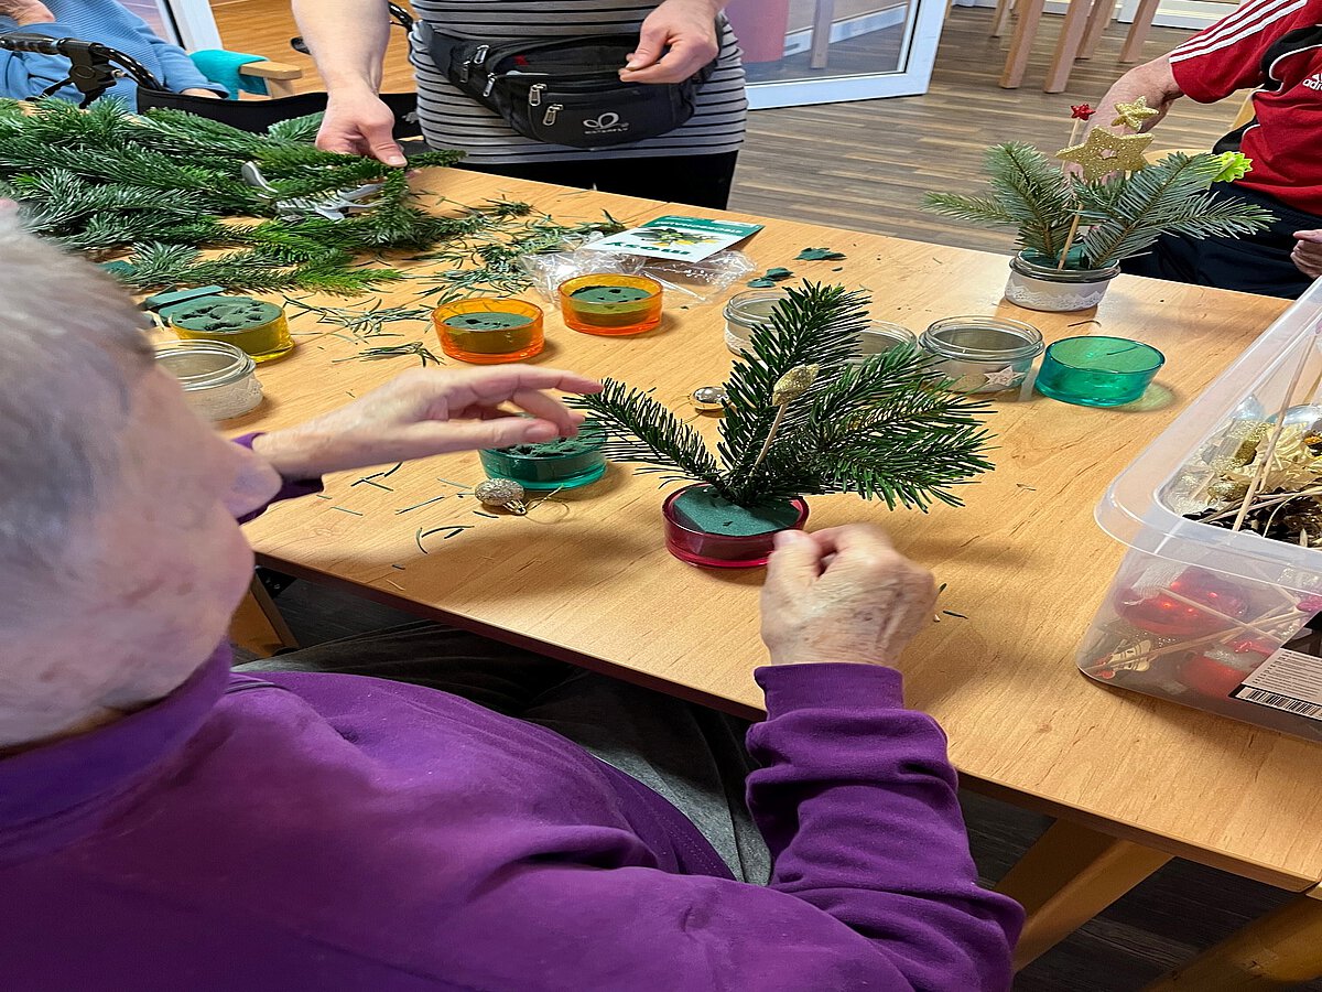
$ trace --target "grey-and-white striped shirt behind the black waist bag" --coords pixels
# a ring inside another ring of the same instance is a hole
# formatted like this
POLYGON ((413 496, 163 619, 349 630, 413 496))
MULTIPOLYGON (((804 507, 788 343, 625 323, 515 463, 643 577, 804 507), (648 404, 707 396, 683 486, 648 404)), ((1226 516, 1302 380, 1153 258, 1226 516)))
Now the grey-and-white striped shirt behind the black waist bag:
MULTIPOLYGON (((485 42, 518 38, 555 38, 637 33, 657 8, 644 0, 414 0, 419 19, 436 30, 485 42)), ((743 143, 744 73, 739 45, 720 19, 720 56, 717 69, 698 93, 697 110, 682 126, 656 138, 595 151, 546 144, 516 134, 498 114, 460 91, 438 70, 419 44, 410 38, 410 61, 418 74, 418 116, 423 136, 434 148, 459 148, 475 165, 574 161, 603 157, 656 157, 664 155, 718 155, 739 151, 743 143)))

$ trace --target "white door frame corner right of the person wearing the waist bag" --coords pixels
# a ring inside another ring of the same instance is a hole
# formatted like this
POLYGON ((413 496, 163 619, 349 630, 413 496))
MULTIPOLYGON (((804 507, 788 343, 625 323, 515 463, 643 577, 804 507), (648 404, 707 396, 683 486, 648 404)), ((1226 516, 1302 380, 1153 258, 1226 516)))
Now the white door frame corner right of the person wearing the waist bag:
POLYGON ((945 24, 947 0, 908 1, 914 13, 906 22, 896 71, 750 83, 750 110, 842 103, 878 97, 914 97, 927 93, 932 79, 932 63, 936 61, 936 46, 941 40, 941 26, 945 24))

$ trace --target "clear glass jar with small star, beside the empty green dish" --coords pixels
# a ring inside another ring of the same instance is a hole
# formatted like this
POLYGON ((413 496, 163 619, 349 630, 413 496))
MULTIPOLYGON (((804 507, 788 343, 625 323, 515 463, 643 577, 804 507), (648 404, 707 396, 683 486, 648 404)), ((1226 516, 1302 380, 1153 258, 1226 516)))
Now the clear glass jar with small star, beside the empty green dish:
POLYGON ((937 320, 919 339, 937 361, 932 370, 953 393, 1018 389, 1046 345, 1031 324, 1003 317, 962 316, 937 320))

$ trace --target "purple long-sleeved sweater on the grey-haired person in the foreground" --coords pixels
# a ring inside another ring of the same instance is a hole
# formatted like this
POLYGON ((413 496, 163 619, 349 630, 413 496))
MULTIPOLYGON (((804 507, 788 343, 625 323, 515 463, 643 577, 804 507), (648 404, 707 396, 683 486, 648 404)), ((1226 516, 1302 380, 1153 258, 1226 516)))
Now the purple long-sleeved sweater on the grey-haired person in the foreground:
POLYGON ((895 671, 758 669, 759 888, 549 730, 229 661, 0 759, 7 992, 1009 988, 1022 911, 977 886, 895 671))

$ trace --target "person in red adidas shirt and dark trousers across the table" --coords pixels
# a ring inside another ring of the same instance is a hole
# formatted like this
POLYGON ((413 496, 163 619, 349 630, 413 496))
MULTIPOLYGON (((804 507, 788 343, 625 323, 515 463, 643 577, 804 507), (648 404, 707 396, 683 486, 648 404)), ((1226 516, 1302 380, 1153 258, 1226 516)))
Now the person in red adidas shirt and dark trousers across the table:
POLYGON ((1255 89, 1253 119, 1216 143, 1241 151, 1253 171, 1216 196, 1257 204, 1277 217, 1244 238, 1165 235, 1125 271, 1294 299, 1322 275, 1322 0, 1249 0, 1170 54, 1122 75, 1101 102, 1107 124, 1117 102, 1146 97, 1159 112, 1179 97, 1215 103, 1255 89))

